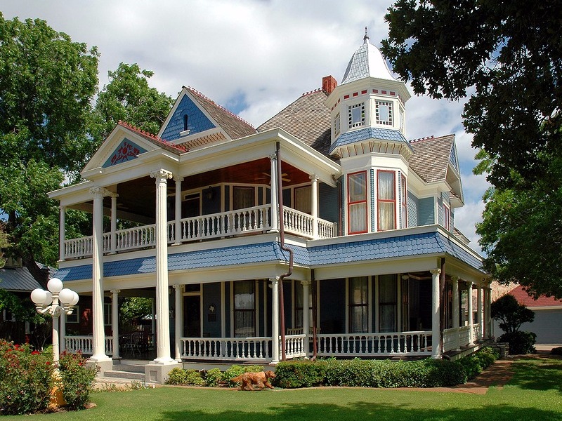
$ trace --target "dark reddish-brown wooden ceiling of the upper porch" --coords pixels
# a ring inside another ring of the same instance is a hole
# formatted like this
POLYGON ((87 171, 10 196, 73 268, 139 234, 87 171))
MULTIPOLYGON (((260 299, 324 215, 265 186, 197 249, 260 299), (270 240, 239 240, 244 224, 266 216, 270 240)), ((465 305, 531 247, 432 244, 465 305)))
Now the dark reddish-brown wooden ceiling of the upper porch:
MULTIPOLYGON (((230 184, 270 184, 271 162, 268 158, 256 161, 240 163, 235 166, 220 168, 207 173, 190 175, 183 179, 181 188, 183 191, 206 188, 219 183, 230 184)), ((310 182, 308 174, 300 171, 289 163, 282 162, 283 187, 299 185, 310 182)), ((156 184, 153 178, 146 176, 136 180, 122 182, 117 185, 117 211, 126 218, 124 213, 135 213, 144 218, 154 218, 155 215, 155 192, 156 184)), ((176 192, 174 179, 168 180, 168 194, 176 192)), ((104 206, 111 207, 110 198, 105 198, 104 206)))

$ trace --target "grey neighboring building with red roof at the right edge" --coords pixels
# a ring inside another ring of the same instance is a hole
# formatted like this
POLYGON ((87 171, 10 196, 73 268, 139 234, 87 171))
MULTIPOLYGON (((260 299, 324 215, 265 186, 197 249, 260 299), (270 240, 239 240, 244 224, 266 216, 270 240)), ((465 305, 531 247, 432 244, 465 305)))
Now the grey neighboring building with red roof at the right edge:
MULTIPOLYGON (((532 323, 523 323, 519 330, 528 330, 536 333, 537 344, 562 344, 562 301, 552 297, 541 295, 537 300, 532 298, 524 289, 518 285, 508 292, 517 299, 519 304, 527 306, 535 312, 535 320, 532 323)), ((503 330, 499 328, 497 321, 494 323, 495 335, 501 336, 503 330)))

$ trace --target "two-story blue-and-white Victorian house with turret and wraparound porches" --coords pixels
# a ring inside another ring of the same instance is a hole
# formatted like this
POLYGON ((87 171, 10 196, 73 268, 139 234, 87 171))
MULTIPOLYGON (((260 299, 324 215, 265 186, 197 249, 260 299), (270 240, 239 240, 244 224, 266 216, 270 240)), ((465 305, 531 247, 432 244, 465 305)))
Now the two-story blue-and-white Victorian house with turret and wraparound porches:
POLYGON ((118 352, 110 292, 155 294, 157 381, 175 361, 310 355, 313 326, 320 356, 438 358, 488 338, 488 275, 454 223, 455 137, 408 142, 409 98, 365 36, 339 85, 326 76, 257 129, 185 87, 157 135, 119 122, 86 181, 50 194, 58 277, 93 297, 91 359, 118 352), (67 208, 93 213, 93 236, 66 238, 67 208))

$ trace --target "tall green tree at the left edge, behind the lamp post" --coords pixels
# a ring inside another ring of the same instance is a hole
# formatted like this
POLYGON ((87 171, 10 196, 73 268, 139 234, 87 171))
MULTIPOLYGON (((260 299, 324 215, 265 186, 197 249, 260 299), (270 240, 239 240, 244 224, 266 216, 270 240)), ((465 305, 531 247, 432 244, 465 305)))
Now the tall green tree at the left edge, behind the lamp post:
POLYGON ((87 124, 98 84, 98 52, 44 20, 0 13, 0 214, 8 255, 35 279, 55 265, 58 209, 46 193, 72 176, 91 149, 87 124))

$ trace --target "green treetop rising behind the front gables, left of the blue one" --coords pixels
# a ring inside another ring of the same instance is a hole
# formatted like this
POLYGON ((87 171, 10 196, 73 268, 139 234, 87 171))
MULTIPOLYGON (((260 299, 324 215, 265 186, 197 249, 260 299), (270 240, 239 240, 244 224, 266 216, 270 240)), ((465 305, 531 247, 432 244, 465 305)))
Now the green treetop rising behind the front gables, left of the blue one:
POLYGON ((115 72, 108 72, 110 83, 98 95, 93 112, 91 135, 98 147, 119 120, 126 121, 148 133, 158 133, 174 100, 148 85, 154 72, 135 63, 120 63, 115 72))

